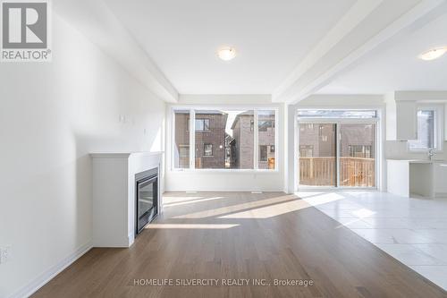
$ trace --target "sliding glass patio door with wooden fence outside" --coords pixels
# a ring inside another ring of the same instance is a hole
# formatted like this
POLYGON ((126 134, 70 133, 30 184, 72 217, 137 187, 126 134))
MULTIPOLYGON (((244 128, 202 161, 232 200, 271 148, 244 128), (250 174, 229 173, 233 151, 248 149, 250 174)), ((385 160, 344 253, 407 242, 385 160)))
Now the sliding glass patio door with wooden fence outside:
POLYGON ((301 110, 299 187, 376 187, 375 111, 301 110))

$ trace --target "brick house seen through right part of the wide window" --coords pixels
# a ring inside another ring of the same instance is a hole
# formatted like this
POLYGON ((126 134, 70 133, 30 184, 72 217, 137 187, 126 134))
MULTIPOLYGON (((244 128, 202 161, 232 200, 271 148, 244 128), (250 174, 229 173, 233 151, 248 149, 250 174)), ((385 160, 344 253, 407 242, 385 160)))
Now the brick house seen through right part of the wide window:
MULTIPOLYGON (((258 119, 258 168, 274 168, 274 115, 258 119)), ((240 113, 232 123, 232 167, 253 168, 254 115, 253 111, 240 113)))

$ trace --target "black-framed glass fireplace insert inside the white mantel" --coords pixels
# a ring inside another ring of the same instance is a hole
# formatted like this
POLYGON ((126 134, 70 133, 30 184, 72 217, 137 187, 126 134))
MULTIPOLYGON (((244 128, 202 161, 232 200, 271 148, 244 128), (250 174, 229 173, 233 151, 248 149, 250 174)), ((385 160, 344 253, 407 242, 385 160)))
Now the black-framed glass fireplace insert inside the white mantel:
POLYGON ((135 175, 135 196, 137 235, 158 214, 158 168, 135 175))

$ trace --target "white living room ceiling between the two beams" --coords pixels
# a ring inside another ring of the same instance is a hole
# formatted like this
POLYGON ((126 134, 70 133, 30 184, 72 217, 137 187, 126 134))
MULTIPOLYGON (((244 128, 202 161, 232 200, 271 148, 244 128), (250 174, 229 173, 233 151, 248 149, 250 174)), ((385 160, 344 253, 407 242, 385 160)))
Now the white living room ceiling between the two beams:
POLYGON ((181 94, 271 94, 355 2, 105 0, 181 94))

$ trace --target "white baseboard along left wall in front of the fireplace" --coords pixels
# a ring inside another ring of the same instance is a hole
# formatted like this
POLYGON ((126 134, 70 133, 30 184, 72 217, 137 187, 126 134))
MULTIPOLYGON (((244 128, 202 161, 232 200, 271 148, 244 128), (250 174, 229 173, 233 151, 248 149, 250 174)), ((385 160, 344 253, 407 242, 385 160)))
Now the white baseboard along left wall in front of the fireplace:
POLYGON ((61 273, 64 268, 69 267, 70 265, 72 265, 72 263, 74 263, 74 261, 80 259, 80 257, 88 252, 91 248, 91 242, 82 245, 78 250, 74 251, 68 257, 58 262, 52 268, 46 270, 46 272, 41 274, 39 277, 36 277, 28 285, 23 286, 19 291, 11 295, 9 298, 30 297, 30 295, 36 293, 39 288, 46 285, 46 283, 53 279, 53 277, 61 273))

